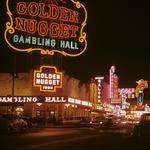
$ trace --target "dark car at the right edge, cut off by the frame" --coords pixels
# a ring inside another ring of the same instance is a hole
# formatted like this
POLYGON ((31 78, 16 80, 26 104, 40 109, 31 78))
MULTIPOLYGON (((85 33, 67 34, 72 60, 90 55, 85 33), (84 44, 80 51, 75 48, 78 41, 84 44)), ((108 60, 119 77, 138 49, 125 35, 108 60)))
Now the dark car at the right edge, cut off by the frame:
POLYGON ((136 140, 150 139, 150 113, 141 115, 140 121, 134 126, 131 135, 136 140))

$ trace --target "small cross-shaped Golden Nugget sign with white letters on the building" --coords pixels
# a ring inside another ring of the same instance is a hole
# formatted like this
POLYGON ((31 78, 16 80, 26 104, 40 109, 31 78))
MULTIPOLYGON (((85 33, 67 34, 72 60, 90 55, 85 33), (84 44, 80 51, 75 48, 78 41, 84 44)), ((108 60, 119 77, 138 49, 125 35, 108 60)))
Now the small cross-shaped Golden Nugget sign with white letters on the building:
POLYGON ((34 71, 34 86, 40 91, 56 92, 56 88, 62 88, 62 72, 57 72, 54 66, 41 66, 34 71))

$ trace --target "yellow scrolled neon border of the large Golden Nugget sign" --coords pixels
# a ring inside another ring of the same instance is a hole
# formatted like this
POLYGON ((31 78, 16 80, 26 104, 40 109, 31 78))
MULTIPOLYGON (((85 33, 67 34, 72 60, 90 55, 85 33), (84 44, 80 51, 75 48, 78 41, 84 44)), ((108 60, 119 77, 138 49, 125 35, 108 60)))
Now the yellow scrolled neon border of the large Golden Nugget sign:
POLYGON ((17 48, 15 46, 13 46, 9 40, 7 39, 7 34, 13 34, 15 32, 15 29, 13 28, 13 18, 12 18, 12 13, 9 9, 9 0, 6 0, 6 8, 7 8, 7 14, 10 18, 10 21, 6 22, 6 30, 4 32, 4 38, 7 42, 7 44, 14 50, 16 51, 19 51, 19 52, 32 52, 32 51, 40 51, 41 54, 43 55, 54 55, 55 53, 60 53, 64 56, 71 56, 71 57, 76 57, 76 56, 79 56, 81 55, 82 53, 85 52, 86 48, 87 48, 87 40, 86 40, 86 32, 84 32, 84 27, 86 26, 86 22, 87 22, 87 10, 85 8, 85 6, 80 3, 79 1, 75 1, 75 0, 70 0, 77 9, 83 9, 84 10, 84 13, 85 13, 85 17, 84 17, 84 20, 83 22, 81 23, 81 29, 80 29, 80 36, 78 38, 78 41, 80 43, 84 43, 84 48, 82 49, 82 51, 80 51, 79 53, 77 54, 69 54, 65 51, 60 51, 60 50, 57 50, 57 49, 52 49, 52 50, 49 50, 49 49, 43 49, 43 48, 25 48, 25 49, 20 49, 20 48, 17 48))

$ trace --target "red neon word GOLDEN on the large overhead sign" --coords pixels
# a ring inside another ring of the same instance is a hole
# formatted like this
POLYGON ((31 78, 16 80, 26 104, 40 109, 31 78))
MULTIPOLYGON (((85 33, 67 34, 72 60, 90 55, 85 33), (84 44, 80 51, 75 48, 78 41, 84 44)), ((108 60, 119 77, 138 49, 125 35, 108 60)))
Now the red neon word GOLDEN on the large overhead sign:
POLYGON ((79 13, 77 11, 54 4, 18 2, 16 10, 20 15, 79 23, 79 13))

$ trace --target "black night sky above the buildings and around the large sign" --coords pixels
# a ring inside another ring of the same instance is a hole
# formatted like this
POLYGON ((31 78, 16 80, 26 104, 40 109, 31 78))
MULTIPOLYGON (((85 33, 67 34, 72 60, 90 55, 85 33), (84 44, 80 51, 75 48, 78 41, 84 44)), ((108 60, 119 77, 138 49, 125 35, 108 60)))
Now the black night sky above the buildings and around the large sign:
MULTIPOLYGON (((79 57, 50 56, 46 63, 54 63, 68 75, 82 82, 109 73, 116 66, 120 87, 135 87, 143 78, 150 81, 150 10, 148 1, 81 0, 88 11, 87 50, 79 57)), ((40 54, 16 53, 4 39, 8 20, 5 0, 1 1, 0 72, 26 72, 42 64, 40 54), (16 61, 14 61, 16 60, 16 61)), ((146 98, 150 99, 150 88, 146 98), (149 96, 148 96, 149 95, 149 96)))

